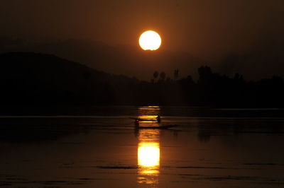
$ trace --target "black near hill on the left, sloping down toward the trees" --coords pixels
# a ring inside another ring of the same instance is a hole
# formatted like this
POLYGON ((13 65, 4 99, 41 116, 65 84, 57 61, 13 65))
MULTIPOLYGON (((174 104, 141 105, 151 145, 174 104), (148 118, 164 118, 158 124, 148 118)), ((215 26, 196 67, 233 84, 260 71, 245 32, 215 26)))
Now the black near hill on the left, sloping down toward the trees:
POLYGON ((2 104, 107 104, 117 87, 137 81, 48 54, 10 52, 0 62, 2 104))

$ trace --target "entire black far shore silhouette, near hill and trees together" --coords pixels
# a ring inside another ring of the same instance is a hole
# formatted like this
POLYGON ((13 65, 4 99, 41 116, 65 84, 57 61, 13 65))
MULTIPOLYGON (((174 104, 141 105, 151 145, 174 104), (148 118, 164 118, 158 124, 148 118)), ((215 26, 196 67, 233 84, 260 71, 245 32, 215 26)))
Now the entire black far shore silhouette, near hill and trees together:
POLYGON ((284 107, 283 78, 245 81, 212 72, 209 66, 180 78, 155 71, 151 81, 107 74, 46 54, 0 55, 0 103, 6 105, 187 105, 284 107))

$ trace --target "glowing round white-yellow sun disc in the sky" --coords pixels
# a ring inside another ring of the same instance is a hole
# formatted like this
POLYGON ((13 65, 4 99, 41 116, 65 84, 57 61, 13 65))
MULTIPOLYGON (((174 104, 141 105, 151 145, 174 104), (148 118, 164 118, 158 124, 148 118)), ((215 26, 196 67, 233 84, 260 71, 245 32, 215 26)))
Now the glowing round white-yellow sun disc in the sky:
POLYGON ((160 35, 153 30, 147 30, 139 38, 139 45, 144 50, 156 50, 161 43, 160 35))

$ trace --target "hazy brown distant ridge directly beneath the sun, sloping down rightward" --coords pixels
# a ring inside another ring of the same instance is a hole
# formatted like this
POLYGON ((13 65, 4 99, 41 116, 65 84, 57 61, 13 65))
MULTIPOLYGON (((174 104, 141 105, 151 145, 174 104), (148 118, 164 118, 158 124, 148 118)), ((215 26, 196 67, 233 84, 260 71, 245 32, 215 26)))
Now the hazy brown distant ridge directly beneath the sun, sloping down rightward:
POLYGON ((120 45, 112 47, 92 40, 62 40, 58 42, 27 42, 18 40, 12 45, 2 45, 1 52, 39 52, 55 54, 64 59, 79 61, 82 64, 107 71, 150 80, 154 71, 165 71, 173 77, 175 69, 182 69, 182 75, 197 76, 197 68, 204 61, 182 52, 143 51, 140 47, 120 45), (190 66, 189 66, 190 65, 190 66))

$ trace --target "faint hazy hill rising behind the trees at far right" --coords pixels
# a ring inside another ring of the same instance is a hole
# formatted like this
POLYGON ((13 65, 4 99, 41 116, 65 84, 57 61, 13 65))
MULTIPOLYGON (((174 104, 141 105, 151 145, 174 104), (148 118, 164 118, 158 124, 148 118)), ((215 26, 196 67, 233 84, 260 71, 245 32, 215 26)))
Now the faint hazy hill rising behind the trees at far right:
POLYGON ((284 77, 284 42, 267 40, 241 54, 229 54, 213 67, 219 73, 229 76, 236 72, 246 80, 270 78, 273 75, 284 77))

